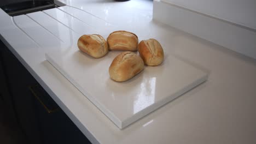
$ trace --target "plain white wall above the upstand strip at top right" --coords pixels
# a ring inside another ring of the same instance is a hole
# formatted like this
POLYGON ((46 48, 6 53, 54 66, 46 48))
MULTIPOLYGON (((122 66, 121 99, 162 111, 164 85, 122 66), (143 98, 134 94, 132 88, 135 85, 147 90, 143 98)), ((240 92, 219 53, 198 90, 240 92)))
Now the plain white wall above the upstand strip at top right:
POLYGON ((256 0, 162 0, 256 29, 256 0))

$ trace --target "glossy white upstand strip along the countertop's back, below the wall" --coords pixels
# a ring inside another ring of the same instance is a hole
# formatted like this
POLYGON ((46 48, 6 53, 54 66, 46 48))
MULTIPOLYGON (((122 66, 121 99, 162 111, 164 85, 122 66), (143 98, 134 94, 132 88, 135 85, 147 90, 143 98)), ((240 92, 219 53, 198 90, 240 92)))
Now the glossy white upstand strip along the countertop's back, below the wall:
POLYGON ((256 59, 255 29, 253 31, 164 1, 154 1, 153 19, 256 59))

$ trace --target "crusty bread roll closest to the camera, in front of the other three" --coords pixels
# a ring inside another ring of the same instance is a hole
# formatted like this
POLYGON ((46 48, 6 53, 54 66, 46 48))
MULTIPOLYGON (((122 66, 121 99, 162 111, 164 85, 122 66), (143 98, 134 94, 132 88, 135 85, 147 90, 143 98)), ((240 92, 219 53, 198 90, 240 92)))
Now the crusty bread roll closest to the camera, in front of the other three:
POLYGON ((144 69, 144 62, 135 53, 125 51, 114 58, 109 67, 110 78, 122 82, 131 79, 144 69))

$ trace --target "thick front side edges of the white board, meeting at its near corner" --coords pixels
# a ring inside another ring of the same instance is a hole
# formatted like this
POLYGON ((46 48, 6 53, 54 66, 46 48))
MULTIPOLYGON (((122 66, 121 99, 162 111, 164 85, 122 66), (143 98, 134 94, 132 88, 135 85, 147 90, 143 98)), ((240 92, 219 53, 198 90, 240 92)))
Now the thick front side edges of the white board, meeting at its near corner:
POLYGON ((45 58, 46 60, 51 63, 60 73, 66 77, 66 79, 71 82, 81 93, 85 95, 86 98, 88 98, 92 104, 94 104, 98 109, 100 109, 104 115, 106 115, 119 129, 123 129, 127 127, 128 125, 132 124, 133 122, 136 122, 138 119, 148 115, 149 113, 153 112, 154 110, 158 109, 159 107, 167 104, 173 99, 176 99, 177 97, 181 96, 185 92, 188 92, 189 90, 193 89, 194 87, 200 85, 201 83, 205 82, 207 80, 208 75, 205 73, 204 76, 201 77, 201 79, 197 79, 193 83, 189 83, 187 86, 185 86, 183 89, 180 91, 177 91, 176 93, 170 95, 169 97, 166 97, 158 103, 154 103, 145 109, 135 113, 132 117, 125 119, 124 121, 120 121, 118 117, 114 115, 111 111, 106 109, 103 104, 98 102, 94 97, 92 97, 88 92, 86 92, 82 87, 79 86, 75 80, 73 80, 64 70, 61 69, 61 67, 54 62, 54 60, 48 55, 48 53, 45 53, 45 58))

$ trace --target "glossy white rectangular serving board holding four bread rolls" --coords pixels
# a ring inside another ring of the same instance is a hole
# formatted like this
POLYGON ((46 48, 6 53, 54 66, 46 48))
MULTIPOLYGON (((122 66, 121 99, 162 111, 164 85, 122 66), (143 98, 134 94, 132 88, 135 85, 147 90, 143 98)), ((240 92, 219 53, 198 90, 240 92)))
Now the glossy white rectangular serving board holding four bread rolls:
POLYGON ((109 78, 108 68, 119 51, 92 58, 71 47, 46 53, 46 59, 120 129, 206 81, 207 74, 165 53, 164 63, 145 69, 125 82, 109 78))

